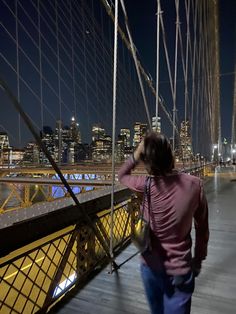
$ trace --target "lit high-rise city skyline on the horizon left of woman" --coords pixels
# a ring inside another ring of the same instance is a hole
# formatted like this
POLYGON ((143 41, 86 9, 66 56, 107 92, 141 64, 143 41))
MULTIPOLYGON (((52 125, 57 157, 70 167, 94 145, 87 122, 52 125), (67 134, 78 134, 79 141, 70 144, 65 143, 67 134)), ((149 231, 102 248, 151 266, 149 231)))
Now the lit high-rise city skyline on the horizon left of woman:
MULTIPOLYGON (((158 119, 158 128, 156 128, 155 117, 153 121, 153 130, 160 132, 160 119, 158 119)), ((120 162, 127 159, 146 132, 147 124, 141 122, 134 123, 132 132, 129 128, 120 129, 115 144, 115 160, 120 162)), ((112 138, 101 124, 92 126, 92 137, 89 143, 82 141, 79 124, 75 117, 71 117, 69 126, 64 126, 62 121, 57 121, 54 129, 44 126, 40 131, 40 138, 56 162, 69 164, 85 160, 111 162, 112 138)), ((30 141, 24 149, 17 149, 10 145, 7 133, 0 132, 0 163, 13 165, 19 162, 49 163, 38 141, 30 141)))

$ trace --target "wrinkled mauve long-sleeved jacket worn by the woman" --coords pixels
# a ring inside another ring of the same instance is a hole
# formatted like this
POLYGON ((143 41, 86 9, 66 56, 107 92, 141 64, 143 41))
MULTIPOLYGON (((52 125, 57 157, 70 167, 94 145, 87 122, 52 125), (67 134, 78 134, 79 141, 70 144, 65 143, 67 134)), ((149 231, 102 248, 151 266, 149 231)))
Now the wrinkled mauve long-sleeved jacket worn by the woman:
MULTIPOLYGON (((118 173, 119 181, 136 192, 144 192, 146 176, 131 175, 132 158, 118 173)), ((144 217, 148 219, 147 201, 144 217)), ((209 239, 208 205, 202 181, 194 176, 173 171, 155 176, 150 183, 151 249, 141 256, 155 271, 183 275, 192 266, 192 222, 195 225, 194 262, 200 267, 207 255, 209 239)))

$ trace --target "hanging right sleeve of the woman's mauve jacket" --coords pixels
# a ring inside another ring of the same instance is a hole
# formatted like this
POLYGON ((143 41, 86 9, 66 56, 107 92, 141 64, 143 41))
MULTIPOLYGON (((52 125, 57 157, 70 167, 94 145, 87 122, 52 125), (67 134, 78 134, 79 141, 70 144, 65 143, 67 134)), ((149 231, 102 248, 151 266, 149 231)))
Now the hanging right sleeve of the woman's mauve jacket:
POLYGON ((199 207, 194 214, 194 225, 196 235, 194 263, 197 268, 201 268, 201 263, 207 256, 207 246, 209 240, 208 204, 202 182, 200 183, 199 207))

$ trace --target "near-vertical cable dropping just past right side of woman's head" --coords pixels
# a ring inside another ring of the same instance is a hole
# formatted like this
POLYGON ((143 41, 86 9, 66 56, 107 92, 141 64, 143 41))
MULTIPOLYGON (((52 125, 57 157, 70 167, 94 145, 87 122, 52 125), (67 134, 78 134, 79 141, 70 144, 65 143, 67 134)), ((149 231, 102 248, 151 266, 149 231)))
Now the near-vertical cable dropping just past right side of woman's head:
POLYGON ((178 32, 179 32, 179 0, 176 6, 176 29, 175 29, 175 73, 174 73, 174 97, 173 97, 173 152, 175 151, 175 120, 176 120, 176 81, 177 81, 177 57, 178 57, 178 32))

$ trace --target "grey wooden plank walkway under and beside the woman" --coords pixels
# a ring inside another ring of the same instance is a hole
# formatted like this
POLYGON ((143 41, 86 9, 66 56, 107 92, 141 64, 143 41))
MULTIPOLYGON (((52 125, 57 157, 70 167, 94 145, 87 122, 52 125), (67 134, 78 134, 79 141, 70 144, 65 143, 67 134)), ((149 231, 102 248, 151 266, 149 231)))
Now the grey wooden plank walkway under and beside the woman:
MULTIPOLYGON (((233 314, 236 309, 236 169, 218 169, 206 183, 209 201, 208 258, 196 280, 192 314, 233 314)), ((129 246, 118 258, 122 263, 135 253, 129 246)), ((118 273, 109 267, 82 290, 59 303, 52 313, 149 313, 140 275, 139 258, 125 263, 118 273)))

